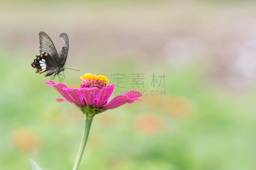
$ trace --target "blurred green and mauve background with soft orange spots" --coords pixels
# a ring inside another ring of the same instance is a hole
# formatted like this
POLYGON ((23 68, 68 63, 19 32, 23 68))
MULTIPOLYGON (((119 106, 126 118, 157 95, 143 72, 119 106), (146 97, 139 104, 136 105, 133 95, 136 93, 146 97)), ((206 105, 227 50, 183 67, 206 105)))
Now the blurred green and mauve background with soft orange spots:
POLYGON ((40 31, 57 50, 60 33, 68 34, 66 67, 80 69, 65 70, 68 87, 88 72, 115 84, 113 75, 124 74, 125 88, 115 91, 144 94, 143 102, 95 116, 80 169, 255 169, 255 7, 246 0, 1 1, 0 169, 31 169, 29 159, 44 170, 72 169, 76 159, 84 117, 56 102, 60 94, 44 85, 49 77, 30 66, 40 31))

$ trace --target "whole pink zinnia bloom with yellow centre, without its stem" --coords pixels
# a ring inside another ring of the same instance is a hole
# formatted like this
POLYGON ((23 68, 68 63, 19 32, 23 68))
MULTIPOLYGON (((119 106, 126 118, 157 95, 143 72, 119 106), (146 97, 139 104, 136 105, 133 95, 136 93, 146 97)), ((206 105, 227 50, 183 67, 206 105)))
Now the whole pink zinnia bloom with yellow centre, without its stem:
MULTIPOLYGON (((52 80, 45 82, 45 85, 54 87, 64 99, 56 101, 68 101, 80 108, 84 114, 96 115, 107 109, 114 109, 125 103, 133 103, 135 100, 141 100, 141 93, 138 91, 128 91, 124 95, 114 97, 108 102, 112 92, 115 89, 114 84, 106 85, 108 79, 103 75, 85 74, 80 77, 83 82, 80 89, 68 88, 65 84, 55 83, 52 80)), ((142 101, 142 100, 141 100, 142 101)))

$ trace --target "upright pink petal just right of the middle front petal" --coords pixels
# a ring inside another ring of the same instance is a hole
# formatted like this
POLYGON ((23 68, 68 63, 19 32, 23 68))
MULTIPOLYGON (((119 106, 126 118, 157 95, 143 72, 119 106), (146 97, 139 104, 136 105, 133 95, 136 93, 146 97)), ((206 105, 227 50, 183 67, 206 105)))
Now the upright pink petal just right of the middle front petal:
POLYGON ((99 92, 96 93, 97 107, 102 106, 104 103, 108 101, 114 89, 115 89, 115 85, 110 84, 107 87, 103 87, 102 89, 100 89, 99 92))

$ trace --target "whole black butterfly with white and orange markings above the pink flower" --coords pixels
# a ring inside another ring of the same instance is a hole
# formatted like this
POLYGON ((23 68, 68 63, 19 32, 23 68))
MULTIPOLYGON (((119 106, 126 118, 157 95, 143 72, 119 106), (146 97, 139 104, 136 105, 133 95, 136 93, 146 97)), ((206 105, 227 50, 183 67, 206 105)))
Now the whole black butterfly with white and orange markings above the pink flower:
MULTIPOLYGON (((44 76, 53 75, 51 79, 54 79, 57 75, 60 78, 60 72, 65 70, 64 67, 68 57, 68 35, 61 33, 60 38, 64 41, 65 46, 60 49, 60 53, 58 54, 50 37, 44 32, 39 33, 40 55, 36 55, 36 58, 31 64, 36 69, 36 73, 41 74, 49 70, 44 76)), ((61 76, 60 82, 65 78, 65 74, 61 76)))

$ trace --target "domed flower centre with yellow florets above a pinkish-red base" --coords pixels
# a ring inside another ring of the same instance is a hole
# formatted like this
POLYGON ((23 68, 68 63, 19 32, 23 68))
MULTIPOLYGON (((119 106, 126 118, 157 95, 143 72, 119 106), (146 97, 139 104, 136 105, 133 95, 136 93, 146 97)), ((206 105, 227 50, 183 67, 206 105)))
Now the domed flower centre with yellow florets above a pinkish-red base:
POLYGON ((83 82, 80 85, 81 88, 85 87, 98 87, 99 89, 102 89, 102 87, 106 87, 108 83, 108 79, 106 76, 103 76, 101 74, 96 75, 92 73, 87 73, 80 77, 83 82))

